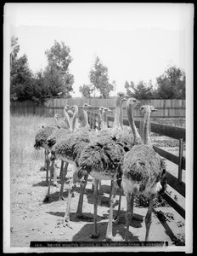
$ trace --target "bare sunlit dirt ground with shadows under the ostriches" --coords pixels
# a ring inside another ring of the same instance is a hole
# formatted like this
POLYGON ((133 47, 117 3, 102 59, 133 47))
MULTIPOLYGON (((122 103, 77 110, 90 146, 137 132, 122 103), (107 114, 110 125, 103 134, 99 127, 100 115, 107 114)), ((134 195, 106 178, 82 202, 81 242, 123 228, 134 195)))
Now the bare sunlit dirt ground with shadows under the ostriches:
MULTIPOLYGON (((170 165, 170 164, 169 164, 170 165)), ((59 162, 60 166, 60 162, 59 162)), ((10 247, 30 247, 31 241, 105 241, 107 222, 109 217, 110 181, 102 181, 101 201, 98 206, 98 231, 97 239, 90 238, 93 231, 93 191, 92 178, 89 177, 84 195, 83 213, 87 219, 76 218, 76 207, 79 198, 79 185, 71 201, 70 224, 71 228, 64 227, 62 220, 65 214, 66 197, 71 166, 65 182, 65 201, 59 201, 59 187, 51 187, 51 201, 43 203, 47 194, 45 183, 46 172, 40 170, 41 166, 34 166, 31 174, 12 180, 11 209, 10 209, 10 247)), ((173 169, 173 168, 172 168, 173 169)), ((116 195, 118 203, 118 195, 116 195)), ((184 199, 180 199, 184 204, 184 199)), ((114 214, 117 212, 115 204, 114 214)), ((113 225, 115 241, 124 241, 125 234, 125 196, 121 201, 121 222, 113 225)), ((134 212, 141 221, 132 220, 129 228, 129 241, 144 241, 144 217, 146 207, 134 207, 134 212)), ((185 242, 185 220, 172 207, 155 207, 152 215, 152 224, 149 241, 168 241, 169 246, 183 246, 185 242)))

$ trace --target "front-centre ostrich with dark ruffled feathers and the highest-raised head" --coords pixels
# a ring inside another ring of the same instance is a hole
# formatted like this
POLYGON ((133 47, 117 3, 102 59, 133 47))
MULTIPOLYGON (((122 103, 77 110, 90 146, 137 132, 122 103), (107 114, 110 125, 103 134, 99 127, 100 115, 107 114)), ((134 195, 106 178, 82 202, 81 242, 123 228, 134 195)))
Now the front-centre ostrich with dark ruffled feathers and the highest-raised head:
MULTIPOLYGON (((117 102, 121 105, 121 102, 127 100, 127 95, 118 94, 117 102), (121 100, 120 100, 121 97, 121 100)), ((119 106, 120 106, 119 105, 119 106)), ((115 105, 118 107, 118 104, 115 105)), ((117 110, 118 108, 116 108, 117 110)), ((120 114, 120 112, 119 112, 120 114)), ((115 125, 112 131, 115 134, 119 133, 119 115, 115 117, 115 125)), ((121 130, 120 130, 121 131, 121 130)), ((94 224, 92 237, 99 236, 97 229, 97 207, 98 207, 98 183, 100 180, 112 180, 112 195, 110 198, 110 217, 108 222, 106 238, 112 239, 112 216, 113 207, 116 193, 116 183, 118 169, 121 167, 123 156, 125 154, 124 144, 118 141, 111 133, 105 133, 102 137, 96 137, 91 143, 89 143, 82 151, 80 159, 78 161, 79 170, 78 177, 89 174, 93 177, 94 192, 93 192, 93 205, 94 205, 94 224)))

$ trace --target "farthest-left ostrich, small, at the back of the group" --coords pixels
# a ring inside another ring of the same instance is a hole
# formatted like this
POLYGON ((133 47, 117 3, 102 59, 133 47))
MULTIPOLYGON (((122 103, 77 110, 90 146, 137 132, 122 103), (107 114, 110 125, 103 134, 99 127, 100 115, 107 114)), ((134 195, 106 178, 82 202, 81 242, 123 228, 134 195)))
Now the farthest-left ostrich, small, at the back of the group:
MULTIPOLYGON (((44 158, 44 166, 46 166, 46 182, 48 183, 48 145, 46 144, 47 138, 53 133, 53 131, 58 130, 59 129, 59 123, 58 123, 58 119, 59 119, 60 115, 59 113, 55 113, 54 115, 54 119, 56 122, 56 126, 55 125, 50 125, 50 126, 42 126, 42 129, 40 131, 37 132, 37 135, 35 137, 35 141, 36 143, 34 144, 34 148, 36 149, 40 149, 40 148, 44 148, 45 150, 45 158, 44 158)), ((44 167, 45 168, 45 167, 44 167)))

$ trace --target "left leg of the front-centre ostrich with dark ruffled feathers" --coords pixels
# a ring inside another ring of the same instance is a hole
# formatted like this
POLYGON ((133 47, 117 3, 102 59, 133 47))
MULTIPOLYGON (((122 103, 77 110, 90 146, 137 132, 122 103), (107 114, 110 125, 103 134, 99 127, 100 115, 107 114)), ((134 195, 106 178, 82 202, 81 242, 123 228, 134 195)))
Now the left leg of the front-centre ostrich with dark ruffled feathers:
POLYGON ((99 236, 97 229, 97 207, 98 207, 98 182, 99 180, 93 179, 93 233, 91 238, 97 238, 99 236))

